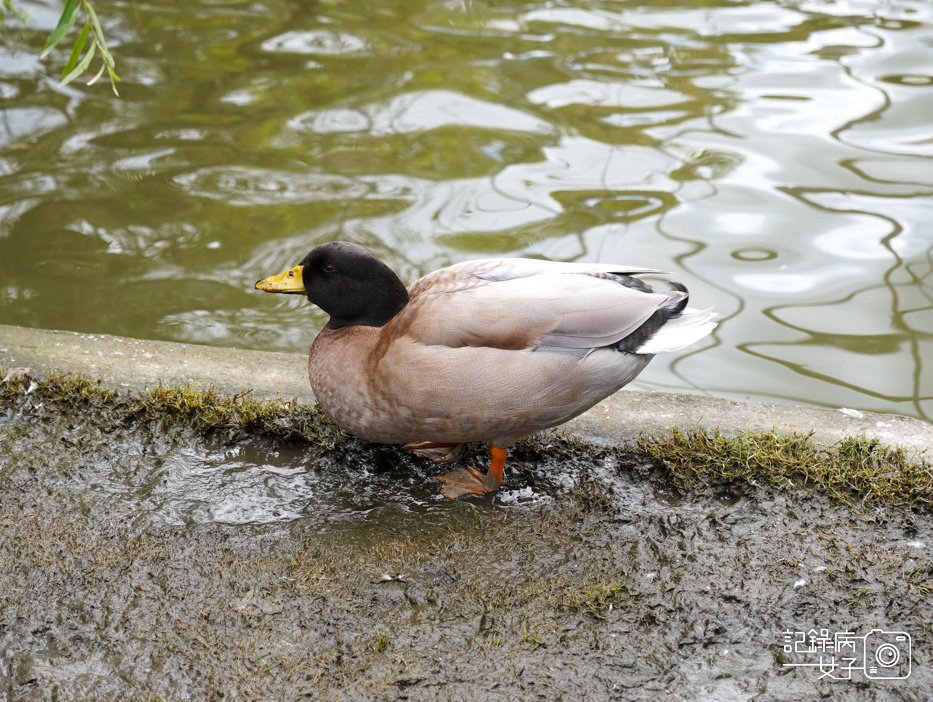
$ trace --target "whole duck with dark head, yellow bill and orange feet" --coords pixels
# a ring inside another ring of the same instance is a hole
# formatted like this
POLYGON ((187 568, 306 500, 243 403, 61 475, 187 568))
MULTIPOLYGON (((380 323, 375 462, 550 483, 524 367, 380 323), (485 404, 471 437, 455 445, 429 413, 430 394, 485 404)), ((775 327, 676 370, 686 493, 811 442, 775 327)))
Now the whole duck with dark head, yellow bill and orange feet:
POLYGON ((439 476, 451 499, 497 490, 508 447, 576 417, 637 376, 654 354, 716 326, 660 292, 648 268, 489 258, 405 287, 368 249, 318 246, 256 288, 306 295, 330 316, 308 372, 321 409, 367 441, 435 459, 488 442, 491 464, 439 476))

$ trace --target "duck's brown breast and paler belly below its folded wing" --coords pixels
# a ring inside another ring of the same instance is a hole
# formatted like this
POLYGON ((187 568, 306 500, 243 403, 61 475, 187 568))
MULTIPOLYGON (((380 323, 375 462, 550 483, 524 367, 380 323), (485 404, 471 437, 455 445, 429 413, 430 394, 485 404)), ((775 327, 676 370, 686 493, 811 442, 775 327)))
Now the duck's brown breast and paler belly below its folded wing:
MULTIPOLYGON (((618 389, 638 368, 594 358, 507 349, 428 346, 385 330, 322 332, 311 348, 311 386, 341 428, 380 443, 508 445, 556 426, 618 389), (596 364, 596 365, 594 365, 596 364)), ((644 362, 647 362, 645 359, 644 362)))

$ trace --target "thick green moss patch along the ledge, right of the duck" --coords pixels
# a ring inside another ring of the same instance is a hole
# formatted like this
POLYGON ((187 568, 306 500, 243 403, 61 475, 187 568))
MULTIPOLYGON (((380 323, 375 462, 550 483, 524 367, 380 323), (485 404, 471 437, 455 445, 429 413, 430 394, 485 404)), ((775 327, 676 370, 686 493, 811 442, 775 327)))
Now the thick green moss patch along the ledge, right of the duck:
POLYGON ((722 479, 816 488, 846 504, 933 508, 933 466, 877 439, 847 437, 822 448, 809 436, 756 432, 730 438, 718 431, 675 429, 666 438, 642 437, 637 445, 682 489, 722 479))

